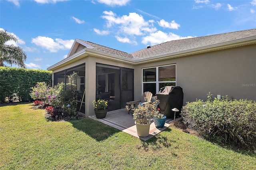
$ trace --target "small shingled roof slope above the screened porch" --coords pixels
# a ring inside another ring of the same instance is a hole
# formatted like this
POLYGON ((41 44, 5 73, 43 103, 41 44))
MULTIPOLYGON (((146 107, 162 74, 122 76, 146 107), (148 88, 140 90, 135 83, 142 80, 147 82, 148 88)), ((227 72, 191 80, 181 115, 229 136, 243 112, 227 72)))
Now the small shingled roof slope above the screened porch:
MULTIPOLYGON (((80 39, 79 39, 80 40, 80 39)), ((92 43, 92 42, 88 42, 88 41, 84 41, 84 40, 80 40, 88 45, 91 45, 92 47, 94 47, 94 49, 104 52, 104 53, 108 53, 108 54, 112 54, 112 55, 117 55, 119 57, 124 57, 124 58, 128 58, 128 59, 132 59, 132 55, 123 51, 119 51, 117 49, 113 49, 110 47, 105 47, 103 45, 99 45, 96 43, 92 43)))

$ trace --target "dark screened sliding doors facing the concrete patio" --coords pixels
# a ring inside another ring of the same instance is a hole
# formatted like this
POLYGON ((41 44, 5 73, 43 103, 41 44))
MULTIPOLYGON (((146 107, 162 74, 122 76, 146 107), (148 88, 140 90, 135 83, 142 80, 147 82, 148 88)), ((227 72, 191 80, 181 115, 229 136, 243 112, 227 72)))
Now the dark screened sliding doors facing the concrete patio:
POLYGON ((96 64, 96 100, 108 100, 108 110, 124 108, 133 100, 133 69, 96 64))

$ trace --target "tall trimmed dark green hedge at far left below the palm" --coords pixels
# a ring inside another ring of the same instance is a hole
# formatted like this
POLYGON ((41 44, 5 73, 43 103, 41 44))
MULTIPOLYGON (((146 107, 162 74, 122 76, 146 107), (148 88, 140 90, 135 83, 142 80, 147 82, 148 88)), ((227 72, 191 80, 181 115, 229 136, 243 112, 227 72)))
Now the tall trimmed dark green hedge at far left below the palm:
POLYGON ((52 85, 52 71, 0 67, 0 103, 30 100, 30 90, 37 82, 52 85))

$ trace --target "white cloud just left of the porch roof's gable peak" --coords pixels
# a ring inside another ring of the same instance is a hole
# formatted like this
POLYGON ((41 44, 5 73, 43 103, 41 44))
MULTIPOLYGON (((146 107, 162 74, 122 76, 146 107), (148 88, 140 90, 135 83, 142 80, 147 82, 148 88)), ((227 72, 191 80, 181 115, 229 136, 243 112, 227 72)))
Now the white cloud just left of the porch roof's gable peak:
POLYGON ((55 41, 49 37, 38 36, 37 38, 32 38, 32 43, 37 46, 48 49, 50 52, 57 52, 58 50, 70 49, 73 45, 74 40, 62 40, 56 38, 55 41))

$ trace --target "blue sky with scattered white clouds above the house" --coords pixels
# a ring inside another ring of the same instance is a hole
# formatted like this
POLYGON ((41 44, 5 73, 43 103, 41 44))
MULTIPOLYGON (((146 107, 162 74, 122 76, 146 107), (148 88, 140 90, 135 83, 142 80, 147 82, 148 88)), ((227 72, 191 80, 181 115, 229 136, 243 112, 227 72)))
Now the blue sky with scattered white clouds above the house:
POLYGON ((252 28, 256 0, 0 0, 0 29, 18 38, 7 43, 24 49, 28 69, 61 61, 76 38, 132 53, 252 28))

